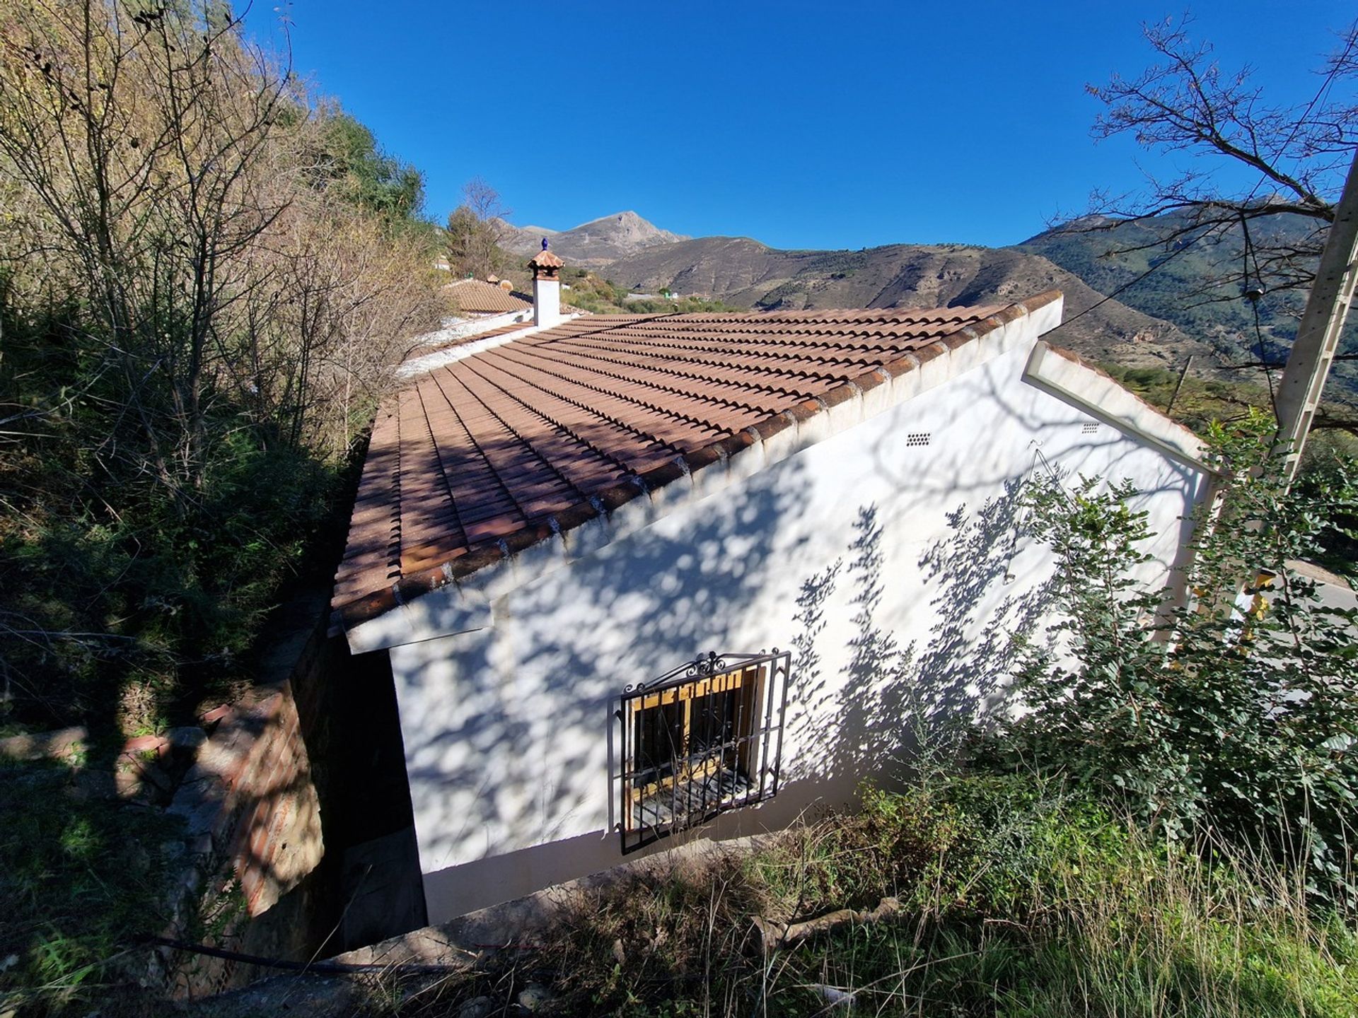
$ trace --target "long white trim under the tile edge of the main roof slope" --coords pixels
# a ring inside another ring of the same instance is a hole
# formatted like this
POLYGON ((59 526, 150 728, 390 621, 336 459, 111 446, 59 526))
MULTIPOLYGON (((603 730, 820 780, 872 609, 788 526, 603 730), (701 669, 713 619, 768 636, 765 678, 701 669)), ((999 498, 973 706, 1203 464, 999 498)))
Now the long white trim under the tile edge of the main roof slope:
MULTIPOLYGON (((680 506, 739 485, 750 475, 794 456, 819 441, 877 417, 891 407, 907 403, 922 392, 979 368, 1017 346, 1031 346, 1038 342, 1039 335, 1061 323, 1063 303, 1054 300, 1044 304, 868 392, 860 391, 851 399, 805 421, 792 421, 767 441, 760 441, 752 429, 747 429, 754 441, 733 456, 686 472, 664 487, 644 491, 611 513, 600 513, 574 529, 554 533, 549 540, 500 559, 459 581, 449 581, 437 590, 401 604, 375 619, 359 623, 345 633, 349 650, 363 654, 490 627, 493 622, 488 622, 486 608, 496 599, 564 569, 607 544, 637 533, 680 506)), ((520 335, 523 333, 515 333, 513 338, 520 335)))

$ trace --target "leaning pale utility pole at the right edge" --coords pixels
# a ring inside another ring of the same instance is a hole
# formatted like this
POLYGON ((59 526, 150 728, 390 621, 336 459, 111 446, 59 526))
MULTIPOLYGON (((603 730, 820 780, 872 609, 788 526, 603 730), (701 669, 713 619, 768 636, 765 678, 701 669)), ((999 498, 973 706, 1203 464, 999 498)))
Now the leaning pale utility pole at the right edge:
POLYGON ((1344 191, 1329 224, 1325 250, 1320 255, 1316 281, 1306 297, 1306 309, 1297 328, 1297 341, 1287 354, 1287 368, 1278 388, 1278 438, 1274 455, 1285 456, 1286 479, 1297 475, 1301 449, 1310 421, 1320 406, 1320 392, 1339 346, 1339 334, 1358 284, 1358 152, 1348 167, 1344 191))

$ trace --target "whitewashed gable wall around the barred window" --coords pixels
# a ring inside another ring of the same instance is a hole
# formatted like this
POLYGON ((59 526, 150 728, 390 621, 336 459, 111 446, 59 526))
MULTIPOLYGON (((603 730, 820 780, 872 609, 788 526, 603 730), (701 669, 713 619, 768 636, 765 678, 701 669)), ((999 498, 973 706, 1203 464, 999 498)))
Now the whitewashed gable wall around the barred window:
POLYGON ((498 597, 488 628, 394 647, 430 922, 615 865, 615 698, 699 653, 794 652, 782 790, 708 836, 845 802, 915 719, 993 702, 1050 577, 1013 513, 1033 470, 1131 478, 1173 561, 1203 476, 1089 433, 1021 380, 1029 349, 498 597))

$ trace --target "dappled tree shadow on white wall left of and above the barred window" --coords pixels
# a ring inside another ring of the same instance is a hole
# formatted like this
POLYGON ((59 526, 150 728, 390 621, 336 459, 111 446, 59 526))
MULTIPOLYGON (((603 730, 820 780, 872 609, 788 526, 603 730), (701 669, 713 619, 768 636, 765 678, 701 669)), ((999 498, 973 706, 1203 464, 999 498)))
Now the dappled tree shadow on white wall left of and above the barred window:
MULTIPOLYGON (((653 525, 515 589, 496 601, 493 628, 452 638, 439 661, 403 676, 402 715, 426 704, 448 721, 406 733, 426 871, 498 858, 490 884, 509 888, 531 873, 540 885, 600 869, 581 859, 618 851, 617 817, 596 814, 611 780, 604 751, 617 696, 708 652, 769 649, 748 645, 744 623, 770 574, 799 554, 804 474, 785 461, 716 495, 717 506, 682 529, 663 519, 668 493, 656 506, 640 495, 625 512, 653 525), (455 669, 452 710, 449 687, 433 677, 440 666, 455 669)), ((612 799, 610 790, 610 809, 612 799)), ((482 900, 462 897, 473 890, 508 896, 464 882, 448 877, 459 907, 482 900)))

